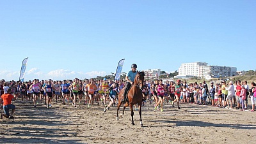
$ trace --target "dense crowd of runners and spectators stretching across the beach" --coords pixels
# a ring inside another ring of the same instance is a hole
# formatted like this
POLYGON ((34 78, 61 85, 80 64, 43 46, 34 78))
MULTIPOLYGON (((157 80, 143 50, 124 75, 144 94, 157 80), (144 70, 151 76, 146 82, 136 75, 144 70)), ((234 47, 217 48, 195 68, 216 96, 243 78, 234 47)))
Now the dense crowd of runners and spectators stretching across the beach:
MULTIPOLYGON (((44 103, 47 108, 52 107, 52 101, 62 104, 72 104, 76 107, 77 103, 84 104, 90 108, 93 104, 103 104, 109 109, 117 103, 118 92, 124 89, 126 82, 124 80, 38 80, 28 82, 0 82, 0 94, 8 93, 12 90, 12 95, 21 101, 33 101, 31 106, 36 108, 38 103, 44 103), (107 104, 109 102, 109 104, 107 104)), ((248 97, 252 101, 252 112, 255 110, 256 99, 255 83, 251 83, 251 88, 246 81, 236 82, 225 81, 208 85, 205 83, 187 83, 186 81, 177 80, 147 80, 143 87, 143 105, 145 102, 154 104, 154 110, 163 112, 163 103, 170 103, 173 107, 177 103, 180 109, 180 103, 193 104, 211 104, 220 108, 234 108, 237 110, 248 109, 248 97)), ((1 108, 3 108, 3 99, 1 99, 1 108)))

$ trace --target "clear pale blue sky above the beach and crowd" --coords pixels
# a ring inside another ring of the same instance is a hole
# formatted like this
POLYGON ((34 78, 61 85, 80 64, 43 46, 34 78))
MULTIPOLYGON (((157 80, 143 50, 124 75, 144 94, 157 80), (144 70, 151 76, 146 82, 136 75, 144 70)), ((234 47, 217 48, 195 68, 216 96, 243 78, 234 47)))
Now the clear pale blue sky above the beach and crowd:
POLYGON ((0 79, 90 78, 181 63, 255 69, 256 1, 1 1, 0 79), (253 60, 253 61, 252 61, 253 60))

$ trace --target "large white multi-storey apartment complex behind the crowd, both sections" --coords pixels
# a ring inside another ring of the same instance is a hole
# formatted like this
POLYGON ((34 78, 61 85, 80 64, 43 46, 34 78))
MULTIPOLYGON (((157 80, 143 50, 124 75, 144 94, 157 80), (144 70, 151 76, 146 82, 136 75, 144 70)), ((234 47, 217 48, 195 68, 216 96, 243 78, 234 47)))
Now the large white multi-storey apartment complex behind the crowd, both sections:
POLYGON ((207 66, 206 62, 191 62, 181 64, 179 75, 200 76, 201 78, 219 78, 227 76, 235 76, 237 68, 228 66, 207 66))

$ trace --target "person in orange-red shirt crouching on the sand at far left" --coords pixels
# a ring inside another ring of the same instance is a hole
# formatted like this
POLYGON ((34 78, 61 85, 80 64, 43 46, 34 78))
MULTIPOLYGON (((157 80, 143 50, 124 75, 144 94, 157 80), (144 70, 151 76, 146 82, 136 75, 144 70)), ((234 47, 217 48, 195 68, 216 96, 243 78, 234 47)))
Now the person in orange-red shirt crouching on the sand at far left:
POLYGON ((11 94, 12 89, 8 89, 6 94, 1 96, 1 104, 3 101, 4 113, 0 113, 0 118, 3 119, 3 116, 6 118, 14 119, 13 113, 15 112, 15 105, 12 104, 12 100, 15 100, 15 97, 11 94), (9 110, 12 110, 12 113, 9 113, 9 110))

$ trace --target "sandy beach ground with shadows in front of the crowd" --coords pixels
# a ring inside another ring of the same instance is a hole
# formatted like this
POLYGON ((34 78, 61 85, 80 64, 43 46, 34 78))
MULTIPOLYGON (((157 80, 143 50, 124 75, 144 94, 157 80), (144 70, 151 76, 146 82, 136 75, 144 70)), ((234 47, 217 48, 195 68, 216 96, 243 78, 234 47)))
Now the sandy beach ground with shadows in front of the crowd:
POLYGON ((129 108, 116 120, 116 106, 104 113, 101 104, 74 108, 58 101, 47 109, 43 103, 36 108, 31 103, 16 100, 15 119, 0 119, 0 143, 256 142, 256 112, 197 104, 181 104, 180 110, 164 104, 164 112, 159 112, 146 103, 141 127, 138 111, 134 111, 135 126, 131 125, 129 108))

